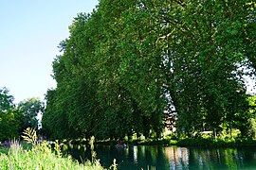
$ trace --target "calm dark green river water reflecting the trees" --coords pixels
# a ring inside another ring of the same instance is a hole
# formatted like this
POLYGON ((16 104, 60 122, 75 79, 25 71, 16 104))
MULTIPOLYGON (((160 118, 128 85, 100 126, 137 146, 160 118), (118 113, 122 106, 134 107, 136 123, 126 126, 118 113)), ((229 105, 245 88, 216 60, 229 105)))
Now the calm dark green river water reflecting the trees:
MULTIPOLYGON (((90 158, 85 145, 64 145, 75 159, 90 158)), ((120 170, 165 169, 256 169, 256 148, 186 148, 176 146, 131 145, 125 148, 95 146, 101 165, 109 167, 116 159, 120 170)))

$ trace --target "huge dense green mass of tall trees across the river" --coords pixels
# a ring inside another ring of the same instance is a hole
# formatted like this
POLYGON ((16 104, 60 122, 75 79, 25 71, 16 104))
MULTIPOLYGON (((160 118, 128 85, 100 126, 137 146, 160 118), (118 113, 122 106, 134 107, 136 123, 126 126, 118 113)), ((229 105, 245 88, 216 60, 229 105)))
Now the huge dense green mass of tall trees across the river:
POLYGON ((159 136, 166 115, 180 133, 238 128, 254 111, 255 3, 101 0, 80 13, 53 61, 46 94, 51 138, 159 136))

